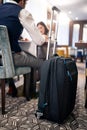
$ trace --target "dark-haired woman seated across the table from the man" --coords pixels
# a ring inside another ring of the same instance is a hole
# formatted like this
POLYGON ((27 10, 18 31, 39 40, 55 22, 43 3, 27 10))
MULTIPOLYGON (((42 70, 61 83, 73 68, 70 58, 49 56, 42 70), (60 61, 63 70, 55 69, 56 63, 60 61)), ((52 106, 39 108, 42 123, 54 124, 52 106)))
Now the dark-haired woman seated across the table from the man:
MULTIPOLYGON (((42 35, 45 35, 45 37, 48 41, 49 30, 48 30, 47 26, 45 25, 45 23, 40 21, 37 23, 37 27, 38 27, 38 30, 40 31, 40 33, 42 35)), ((38 53, 37 55, 39 58, 42 58, 43 60, 45 60, 46 59, 46 52, 47 52, 47 42, 45 42, 43 45, 45 45, 45 46, 43 46, 43 47, 38 46, 37 47, 37 53, 38 53)), ((33 81, 32 81, 33 86, 35 86, 35 88, 36 88, 36 81, 40 80, 40 75, 39 75, 38 70, 35 70, 35 69, 32 70, 32 79, 33 79, 33 81)))

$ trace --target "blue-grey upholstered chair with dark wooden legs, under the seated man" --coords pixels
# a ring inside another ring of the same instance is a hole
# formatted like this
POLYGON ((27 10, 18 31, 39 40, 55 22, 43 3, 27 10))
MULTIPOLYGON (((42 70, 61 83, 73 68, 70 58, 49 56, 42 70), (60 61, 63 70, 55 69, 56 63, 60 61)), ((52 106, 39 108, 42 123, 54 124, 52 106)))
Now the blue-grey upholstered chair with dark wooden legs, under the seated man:
MULTIPOLYGON (((14 66, 8 37, 8 30, 7 27, 3 25, 0 25, 0 53, 2 59, 2 65, 0 66, 1 105, 2 105, 2 114, 5 114, 5 79, 13 78, 14 76, 18 75, 24 75, 25 77, 30 76, 31 68, 14 66)), ((24 90, 26 98, 28 99, 29 84, 26 84, 25 81, 24 81, 24 90)))

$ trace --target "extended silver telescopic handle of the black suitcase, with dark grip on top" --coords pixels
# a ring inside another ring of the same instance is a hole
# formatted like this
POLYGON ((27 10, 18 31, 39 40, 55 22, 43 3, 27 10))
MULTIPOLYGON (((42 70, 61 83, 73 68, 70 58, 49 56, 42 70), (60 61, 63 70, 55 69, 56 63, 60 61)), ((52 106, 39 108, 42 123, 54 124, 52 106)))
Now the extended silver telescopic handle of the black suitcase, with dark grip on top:
MULTIPOLYGON (((55 7, 55 6, 52 7, 52 15, 51 15, 51 23, 50 23, 50 30, 49 30, 49 39, 48 39, 46 60, 48 60, 49 52, 50 52, 50 44, 51 44, 51 36, 52 36, 52 25, 53 25, 54 11, 56 11, 57 13, 60 13, 60 10, 57 7, 55 7)), ((55 39, 54 39, 54 45, 53 45, 53 55, 55 54, 55 48, 56 48, 56 44, 57 44, 57 33, 58 33, 58 21, 57 21, 56 29, 55 29, 55 39)))

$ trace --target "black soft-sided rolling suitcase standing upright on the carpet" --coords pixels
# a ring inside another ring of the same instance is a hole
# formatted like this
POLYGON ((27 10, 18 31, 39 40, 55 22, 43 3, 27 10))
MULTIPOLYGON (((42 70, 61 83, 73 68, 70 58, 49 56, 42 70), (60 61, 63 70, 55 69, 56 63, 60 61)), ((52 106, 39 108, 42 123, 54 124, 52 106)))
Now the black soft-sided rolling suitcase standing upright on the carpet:
MULTIPOLYGON (((52 8, 53 11, 54 9, 57 8, 52 8)), ((78 71, 75 61, 71 58, 57 55, 49 58, 49 48, 50 42, 48 42, 47 60, 41 67, 36 116, 62 123, 75 106, 78 71)))

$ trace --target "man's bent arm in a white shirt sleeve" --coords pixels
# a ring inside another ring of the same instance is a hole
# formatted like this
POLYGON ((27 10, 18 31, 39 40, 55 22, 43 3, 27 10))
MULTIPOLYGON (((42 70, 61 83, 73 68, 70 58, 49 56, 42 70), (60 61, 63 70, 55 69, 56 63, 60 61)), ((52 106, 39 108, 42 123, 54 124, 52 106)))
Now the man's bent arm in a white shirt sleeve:
POLYGON ((22 9, 19 14, 19 20, 22 26, 27 30, 32 38, 32 41, 37 45, 42 45, 46 42, 45 36, 42 36, 34 23, 32 15, 25 9, 22 9))

